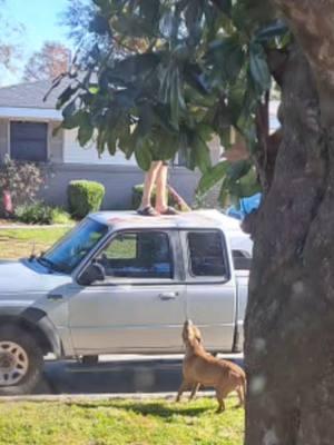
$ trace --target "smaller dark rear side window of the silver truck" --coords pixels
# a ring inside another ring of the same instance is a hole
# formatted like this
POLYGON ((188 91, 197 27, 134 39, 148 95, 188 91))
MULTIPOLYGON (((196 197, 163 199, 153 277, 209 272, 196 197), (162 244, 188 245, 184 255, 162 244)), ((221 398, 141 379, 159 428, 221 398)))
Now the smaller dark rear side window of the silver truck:
POLYGON ((190 273, 195 277, 225 277, 227 267, 217 230, 188 234, 190 273))

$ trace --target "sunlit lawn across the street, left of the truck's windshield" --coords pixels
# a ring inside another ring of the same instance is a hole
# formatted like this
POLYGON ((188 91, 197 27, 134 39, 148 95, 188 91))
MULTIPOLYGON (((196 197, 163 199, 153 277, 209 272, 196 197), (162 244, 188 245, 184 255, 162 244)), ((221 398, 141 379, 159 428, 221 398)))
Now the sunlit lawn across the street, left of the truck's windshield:
POLYGON ((52 227, 29 229, 1 229, 0 227, 0 258, 17 259, 29 257, 33 246, 36 253, 45 251, 67 230, 68 228, 52 227))

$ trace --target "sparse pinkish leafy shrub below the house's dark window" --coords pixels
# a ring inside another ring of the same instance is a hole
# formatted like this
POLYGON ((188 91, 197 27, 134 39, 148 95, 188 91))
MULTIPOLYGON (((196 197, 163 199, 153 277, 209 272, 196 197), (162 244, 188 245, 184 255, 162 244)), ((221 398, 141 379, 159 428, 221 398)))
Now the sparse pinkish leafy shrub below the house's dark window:
POLYGON ((13 206, 33 202, 45 182, 42 169, 33 162, 21 162, 4 158, 0 166, 0 191, 8 190, 13 206))

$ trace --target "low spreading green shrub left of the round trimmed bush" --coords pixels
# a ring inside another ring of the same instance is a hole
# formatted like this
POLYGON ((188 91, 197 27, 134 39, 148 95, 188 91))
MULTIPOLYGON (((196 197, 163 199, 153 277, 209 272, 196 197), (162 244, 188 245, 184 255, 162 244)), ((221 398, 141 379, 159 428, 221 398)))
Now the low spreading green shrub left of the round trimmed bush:
POLYGON ((16 208, 14 217, 24 224, 68 224, 70 216, 59 207, 47 206, 42 201, 23 204, 16 208))

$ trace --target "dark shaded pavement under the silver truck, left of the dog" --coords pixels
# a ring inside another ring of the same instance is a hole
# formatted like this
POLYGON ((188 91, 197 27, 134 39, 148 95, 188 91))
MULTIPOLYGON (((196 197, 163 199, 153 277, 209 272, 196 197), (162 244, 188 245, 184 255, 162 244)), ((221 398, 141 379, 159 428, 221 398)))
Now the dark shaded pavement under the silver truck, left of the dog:
MULTIPOLYGON (((243 365, 242 355, 222 356, 243 365)), ((173 393, 181 380, 183 356, 105 356, 97 366, 46 364, 37 394, 173 393)))

